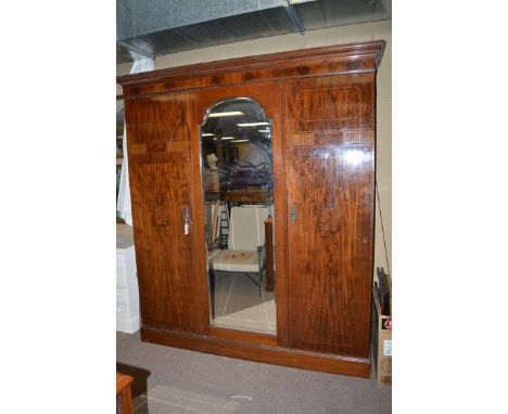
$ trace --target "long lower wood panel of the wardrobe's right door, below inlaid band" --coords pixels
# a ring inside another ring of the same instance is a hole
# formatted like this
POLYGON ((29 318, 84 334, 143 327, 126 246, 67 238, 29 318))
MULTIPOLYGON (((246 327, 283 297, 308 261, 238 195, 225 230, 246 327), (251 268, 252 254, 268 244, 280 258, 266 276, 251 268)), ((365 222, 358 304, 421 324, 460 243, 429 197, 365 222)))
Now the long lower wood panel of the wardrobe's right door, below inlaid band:
POLYGON ((358 354, 367 346, 368 351, 370 153, 368 145, 290 152, 288 208, 295 211, 289 225, 290 318, 295 348, 358 354), (363 154, 361 165, 348 161, 352 153, 363 154))

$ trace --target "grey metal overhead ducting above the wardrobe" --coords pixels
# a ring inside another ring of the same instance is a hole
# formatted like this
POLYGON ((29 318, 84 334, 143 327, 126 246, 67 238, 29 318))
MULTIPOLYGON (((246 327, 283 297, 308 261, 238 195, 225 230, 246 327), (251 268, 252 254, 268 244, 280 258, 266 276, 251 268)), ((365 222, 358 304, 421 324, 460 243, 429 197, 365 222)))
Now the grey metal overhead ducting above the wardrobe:
POLYGON ((389 18, 391 0, 116 0, 116 63, 389 18))

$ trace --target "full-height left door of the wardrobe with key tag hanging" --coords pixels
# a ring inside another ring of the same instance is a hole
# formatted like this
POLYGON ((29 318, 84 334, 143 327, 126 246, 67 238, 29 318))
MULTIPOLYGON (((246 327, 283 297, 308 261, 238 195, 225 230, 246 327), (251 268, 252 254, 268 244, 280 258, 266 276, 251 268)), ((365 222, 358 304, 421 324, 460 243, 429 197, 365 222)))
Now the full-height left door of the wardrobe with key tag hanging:
POLYGON ((187 94, 126 100, 125 117, 142 325, 201 333, 187 94))

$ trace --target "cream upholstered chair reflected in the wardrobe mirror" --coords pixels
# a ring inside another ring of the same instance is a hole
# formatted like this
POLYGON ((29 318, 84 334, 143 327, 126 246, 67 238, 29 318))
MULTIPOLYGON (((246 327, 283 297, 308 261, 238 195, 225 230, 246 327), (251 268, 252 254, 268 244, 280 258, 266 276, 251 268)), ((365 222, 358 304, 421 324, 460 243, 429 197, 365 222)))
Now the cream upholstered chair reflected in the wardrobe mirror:
POLYGON ((259 287, 259 296, 262 295, 267 217, 266 206, 231 208, 228 248, 215 250, 208 256, 208 269, 214 280, 216 271, 243 273, 259 287))

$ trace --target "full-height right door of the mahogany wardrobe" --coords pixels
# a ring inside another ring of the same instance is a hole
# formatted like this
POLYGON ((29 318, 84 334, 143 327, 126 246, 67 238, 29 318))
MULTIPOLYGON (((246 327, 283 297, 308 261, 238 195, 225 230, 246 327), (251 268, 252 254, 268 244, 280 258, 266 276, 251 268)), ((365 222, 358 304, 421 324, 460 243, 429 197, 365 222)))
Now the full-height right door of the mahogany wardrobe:
POLYGON ((285 85, 290 346, 369 357, 374 73, 285 85))

